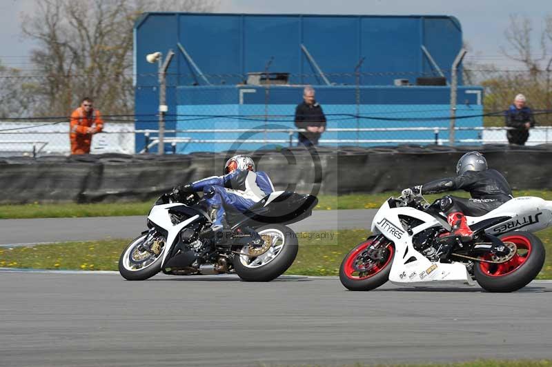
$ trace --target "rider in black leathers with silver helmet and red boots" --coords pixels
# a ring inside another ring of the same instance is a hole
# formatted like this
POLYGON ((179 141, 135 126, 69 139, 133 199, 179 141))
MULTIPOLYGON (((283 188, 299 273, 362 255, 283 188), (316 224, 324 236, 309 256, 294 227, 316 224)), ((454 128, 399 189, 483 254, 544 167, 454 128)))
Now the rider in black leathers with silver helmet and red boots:
MULTIPOLYGON (((479 217, 498 208, 512 199, 512 190, 508 181, 497 170, 489 169, 487 161, 480 152, 468 152, 456 165, 457 177, 438 179, 427 184, 402 190, 404 198, 422 194, 465 190, 471 199, 452 195, 440 199, 440 209, 447 215, 452 227, 450 237, 460 237, 461 241, 471 241, 473 232, 469 228, 466 215, 479 217)), ((449 237, 447 236, 447 237, 449 237)))

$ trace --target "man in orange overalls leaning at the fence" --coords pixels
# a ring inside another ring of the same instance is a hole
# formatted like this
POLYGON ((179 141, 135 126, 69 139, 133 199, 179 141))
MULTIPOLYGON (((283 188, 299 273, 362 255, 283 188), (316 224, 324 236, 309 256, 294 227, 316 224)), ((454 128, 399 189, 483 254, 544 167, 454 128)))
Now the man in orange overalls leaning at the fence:
POLYGON ((73 111, 70 122, 71 154, 84 155, 90 153, 92 135, 101 132, 103 120, 98 110, 92 108, 92 99, 85 97, 81 106, 73 111), (92 127, 95 125, 95 127, 92 127))

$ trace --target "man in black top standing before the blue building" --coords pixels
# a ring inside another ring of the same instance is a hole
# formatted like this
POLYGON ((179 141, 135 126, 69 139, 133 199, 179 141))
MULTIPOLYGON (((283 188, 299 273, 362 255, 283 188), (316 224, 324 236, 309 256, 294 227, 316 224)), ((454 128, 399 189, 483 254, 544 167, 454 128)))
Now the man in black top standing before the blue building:
POLYGON ((298 146, 317 146, 318 139, 326 130, 326 116, 322 107, 315 101, 315 90, 311 86, 303 90, 303 103, 295 108, 295 126, 305 129, 299 132, 298 146))

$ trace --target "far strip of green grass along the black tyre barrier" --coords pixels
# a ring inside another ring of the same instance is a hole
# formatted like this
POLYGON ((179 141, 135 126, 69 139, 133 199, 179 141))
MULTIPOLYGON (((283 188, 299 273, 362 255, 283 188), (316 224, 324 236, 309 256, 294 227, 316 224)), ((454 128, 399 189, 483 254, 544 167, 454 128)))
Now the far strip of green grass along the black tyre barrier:
MULTIPOLYGON (((452 192, 452 195, 469 197, 467 192, 452 192)), ((552 190, 517 190, 514 196, 536 196, 552 200, 552 190)), ((376 209, 383 201, 400 192, 384 192, 381 194, 357 195, 319 195, 319 203, 315 210, 334 209, 376 209)), ((444 194, 443 194, 444 195, 444 194)), ((443 195, 427 195, 428 201, 433 201, 443 195)), ((0 219, 21 218, 71 218, 71 217, 117 217, 126 215, 147 215, 152 201, 140 203, 108 203, 108 204, 25 204, 0 205, 0 219)))

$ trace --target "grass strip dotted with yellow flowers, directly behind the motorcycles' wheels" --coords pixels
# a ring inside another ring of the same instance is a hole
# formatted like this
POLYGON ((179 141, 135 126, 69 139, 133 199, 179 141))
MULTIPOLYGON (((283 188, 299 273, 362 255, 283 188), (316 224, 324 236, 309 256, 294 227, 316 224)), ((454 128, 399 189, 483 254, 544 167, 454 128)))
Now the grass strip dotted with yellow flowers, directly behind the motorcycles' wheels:
MULTIPOLYGON (((338 275, 341 261, 366 230, 299 233, 299 255, 286 274, 338 275)), ((538 233, 546 252, 552 251, 552 228, 538 233)), ((0 248, 0 267, 37 269, 117 270, 119 255, 130 239, 66 242, 32 247, 0 248)), ((538 279, 552 279, 552 257, 547 257, 538 279)))

